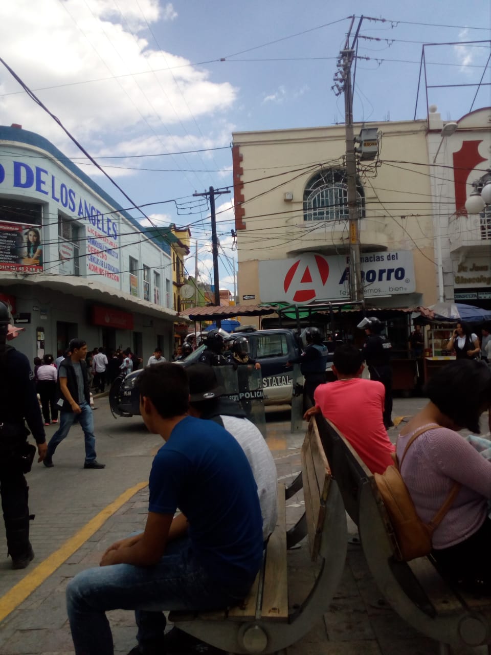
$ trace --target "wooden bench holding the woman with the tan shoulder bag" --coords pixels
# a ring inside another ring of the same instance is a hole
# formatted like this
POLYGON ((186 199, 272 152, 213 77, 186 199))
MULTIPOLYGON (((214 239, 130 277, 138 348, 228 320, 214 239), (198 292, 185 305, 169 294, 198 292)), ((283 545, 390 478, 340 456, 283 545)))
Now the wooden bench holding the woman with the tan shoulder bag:
POLYGON ((322 417, 317 422, 346 511, 358 526, 369 569, 391 607, 416 630, 435 639, 441 655, 450 654, 450 646, 485 644, 491 653, 491 600, 451 588, 431 557, 397 559, 397 541, 373 475, 331 422, 322 417))

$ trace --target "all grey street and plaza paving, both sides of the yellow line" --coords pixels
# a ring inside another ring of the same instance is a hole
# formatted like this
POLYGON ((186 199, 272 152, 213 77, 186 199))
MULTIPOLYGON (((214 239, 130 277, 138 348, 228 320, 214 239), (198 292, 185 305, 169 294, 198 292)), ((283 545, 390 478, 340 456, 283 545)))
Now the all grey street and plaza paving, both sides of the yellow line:
MULTIPOLYGON (((103 398, 97 402, 103 410, 100 426, 105 417, 104 402, 103 398)), ((393 416, 409 417, 424 402, 420 398, 395 399, 393 416)), ((144 434, 136 418, 131 419, 134 421, 131 424, 118 422, 117 428, 109 419, 107 421, 108 427, 100 428, 98 453, 98 458, 107 463, 105 472, 82 471, 80 466, 73 468, 75 460, 71 451, 66 451, 65 459, 61 455, 54 458, 53 469, 37 470, 33 481, 29 481, 34 498, 40 488, 50 497, 44 504, 38 501, 39 515, 31 527, 37 553, 33 563, 25 571, 12 571, 6 559, 0 560, 2 655, 73 654, 65 610, 67 582, 78 571, 97 566, 101 554, 112 542, 143 528, 148 500, 146 481, 151 459, 160 447, 159 438, 144 434), (137 442, 132 437, 132 429, 139 432, 137 442), (92 477, 88 479, 87 474, 92 477), (35 486, 38 488, 34 489, 35 486)), ((391 429, 390 436, 395 440, 397 430, 391 429)), ((291 433, 289 419, 284 413, 268 417, 267 442, 276 460, 278 479, 285 483, 293 480, 300 470, 303 437, 303 431, 291 433)), ((77 449, 73 452, 78 453, 82 444, 74 444, 73 448, 77 449)), ((287 523, 293 525, 302 512, 303 500, 299 493, 287 501, 287 523)), ((355 534, 351 521, 348 529, 355 534)), ((0 547, 4 544, 5 535, 0 533, 0 547)), ((310 584, 308 575, 298 574, 299 569, 308 567, 307 549, 298 549, 293 558, 295 571, 289 580, 290 604, 301 601, 310 584)), ((127 653, 136 644, 132 612, 109 612, 109 620, 115 652, 127 653)), ((386 604, 369 572, 363 551, 351 545, 342 581, 329 611, 304 639, 287 649, 288 655, 430 655, 437 652, 435 642, 405 624, 386 604)), ((484 655, 486 652, 485 647, 454 650, 455 655, 484 655)))

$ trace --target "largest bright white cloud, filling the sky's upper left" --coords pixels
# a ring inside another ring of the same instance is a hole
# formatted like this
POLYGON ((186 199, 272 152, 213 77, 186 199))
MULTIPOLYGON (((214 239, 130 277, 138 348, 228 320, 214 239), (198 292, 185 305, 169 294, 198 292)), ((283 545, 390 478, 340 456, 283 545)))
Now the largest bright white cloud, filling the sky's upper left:
MULTIPOLYGON (((3 2, 2 56, 31 89, 56 87, 36 94, 89 150, 101 142, 110 149, 152 130, 162 144, 172 141, 164 126, 215 115, 236 99, 232 84, 213 83, 205 69, 158 50, 153 41, 150 45, 147 23, 175 16, 171 3, 158 0, 3 2)), ((21 123, 67 155, 75 154, 56 122, 19 90, 10 73, 1 70, 0 122, 21 123)), ((215 139, 223 140, 221 135, 209 138, 215 139)), ((229 140, 230 132, 225 143, 229 140)))

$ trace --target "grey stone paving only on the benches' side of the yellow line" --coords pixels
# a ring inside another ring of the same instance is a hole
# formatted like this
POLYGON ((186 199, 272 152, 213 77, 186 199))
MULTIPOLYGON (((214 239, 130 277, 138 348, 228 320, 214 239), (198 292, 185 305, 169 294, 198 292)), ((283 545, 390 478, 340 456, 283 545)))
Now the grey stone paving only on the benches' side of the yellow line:
MULTIPOLYGON (((424 404, 423 399, 399 399, 393 416, 409 416, 424 404)), ((390 430, 395 439, 397 431, 390 430)), ((268 421, 268 445, 273 452, 278 479, 286 483, 300 470, 300 447, 304 434, 291 434, 289 421, 268 421)), ((81 547, 40 584, 0 623, 0 652, 3 655, 73 654, 65 610, 65 587, 77 572, 97 566, 106 548, 122 536, 143 529, 147 515, 145 487, 122 505, 81 547)), ((287 522, 293 524, 303 512, 301 493, 287 504, 287 522)), ((350 534, 356 532, 350 521, 350 534)), ((306 548, 291 553, 295 568, 308 565, 306 548)), ((29 572, 29 569, 27 569, 29 572)), ((301 601, 308 592, 308 577, 295 574, 289 581, 290 603, 301 601)), ((109 612, 115 652, 127 653, 136 644, 132 612, 109 612)), ((484 655, 486 647, 454 650, 454 655, 484 655)), ((430 655, 437 644, 417 633, 391 610, 376 588, 363 551, 348 546, 344 574, 329 612, 301 641, 287 649, 288 655, 430 655)))

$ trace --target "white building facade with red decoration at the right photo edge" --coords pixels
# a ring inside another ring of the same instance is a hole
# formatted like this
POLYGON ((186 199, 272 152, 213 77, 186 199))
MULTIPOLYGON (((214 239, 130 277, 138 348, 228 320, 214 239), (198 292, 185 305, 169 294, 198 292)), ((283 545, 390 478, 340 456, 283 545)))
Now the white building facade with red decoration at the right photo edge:
POLYGON ((428 120, 439 301, 491 310, 491 206, 465 211, 473 182, 490 175, 491 108, 465 115, 448 136, 437 111, 428 120))

